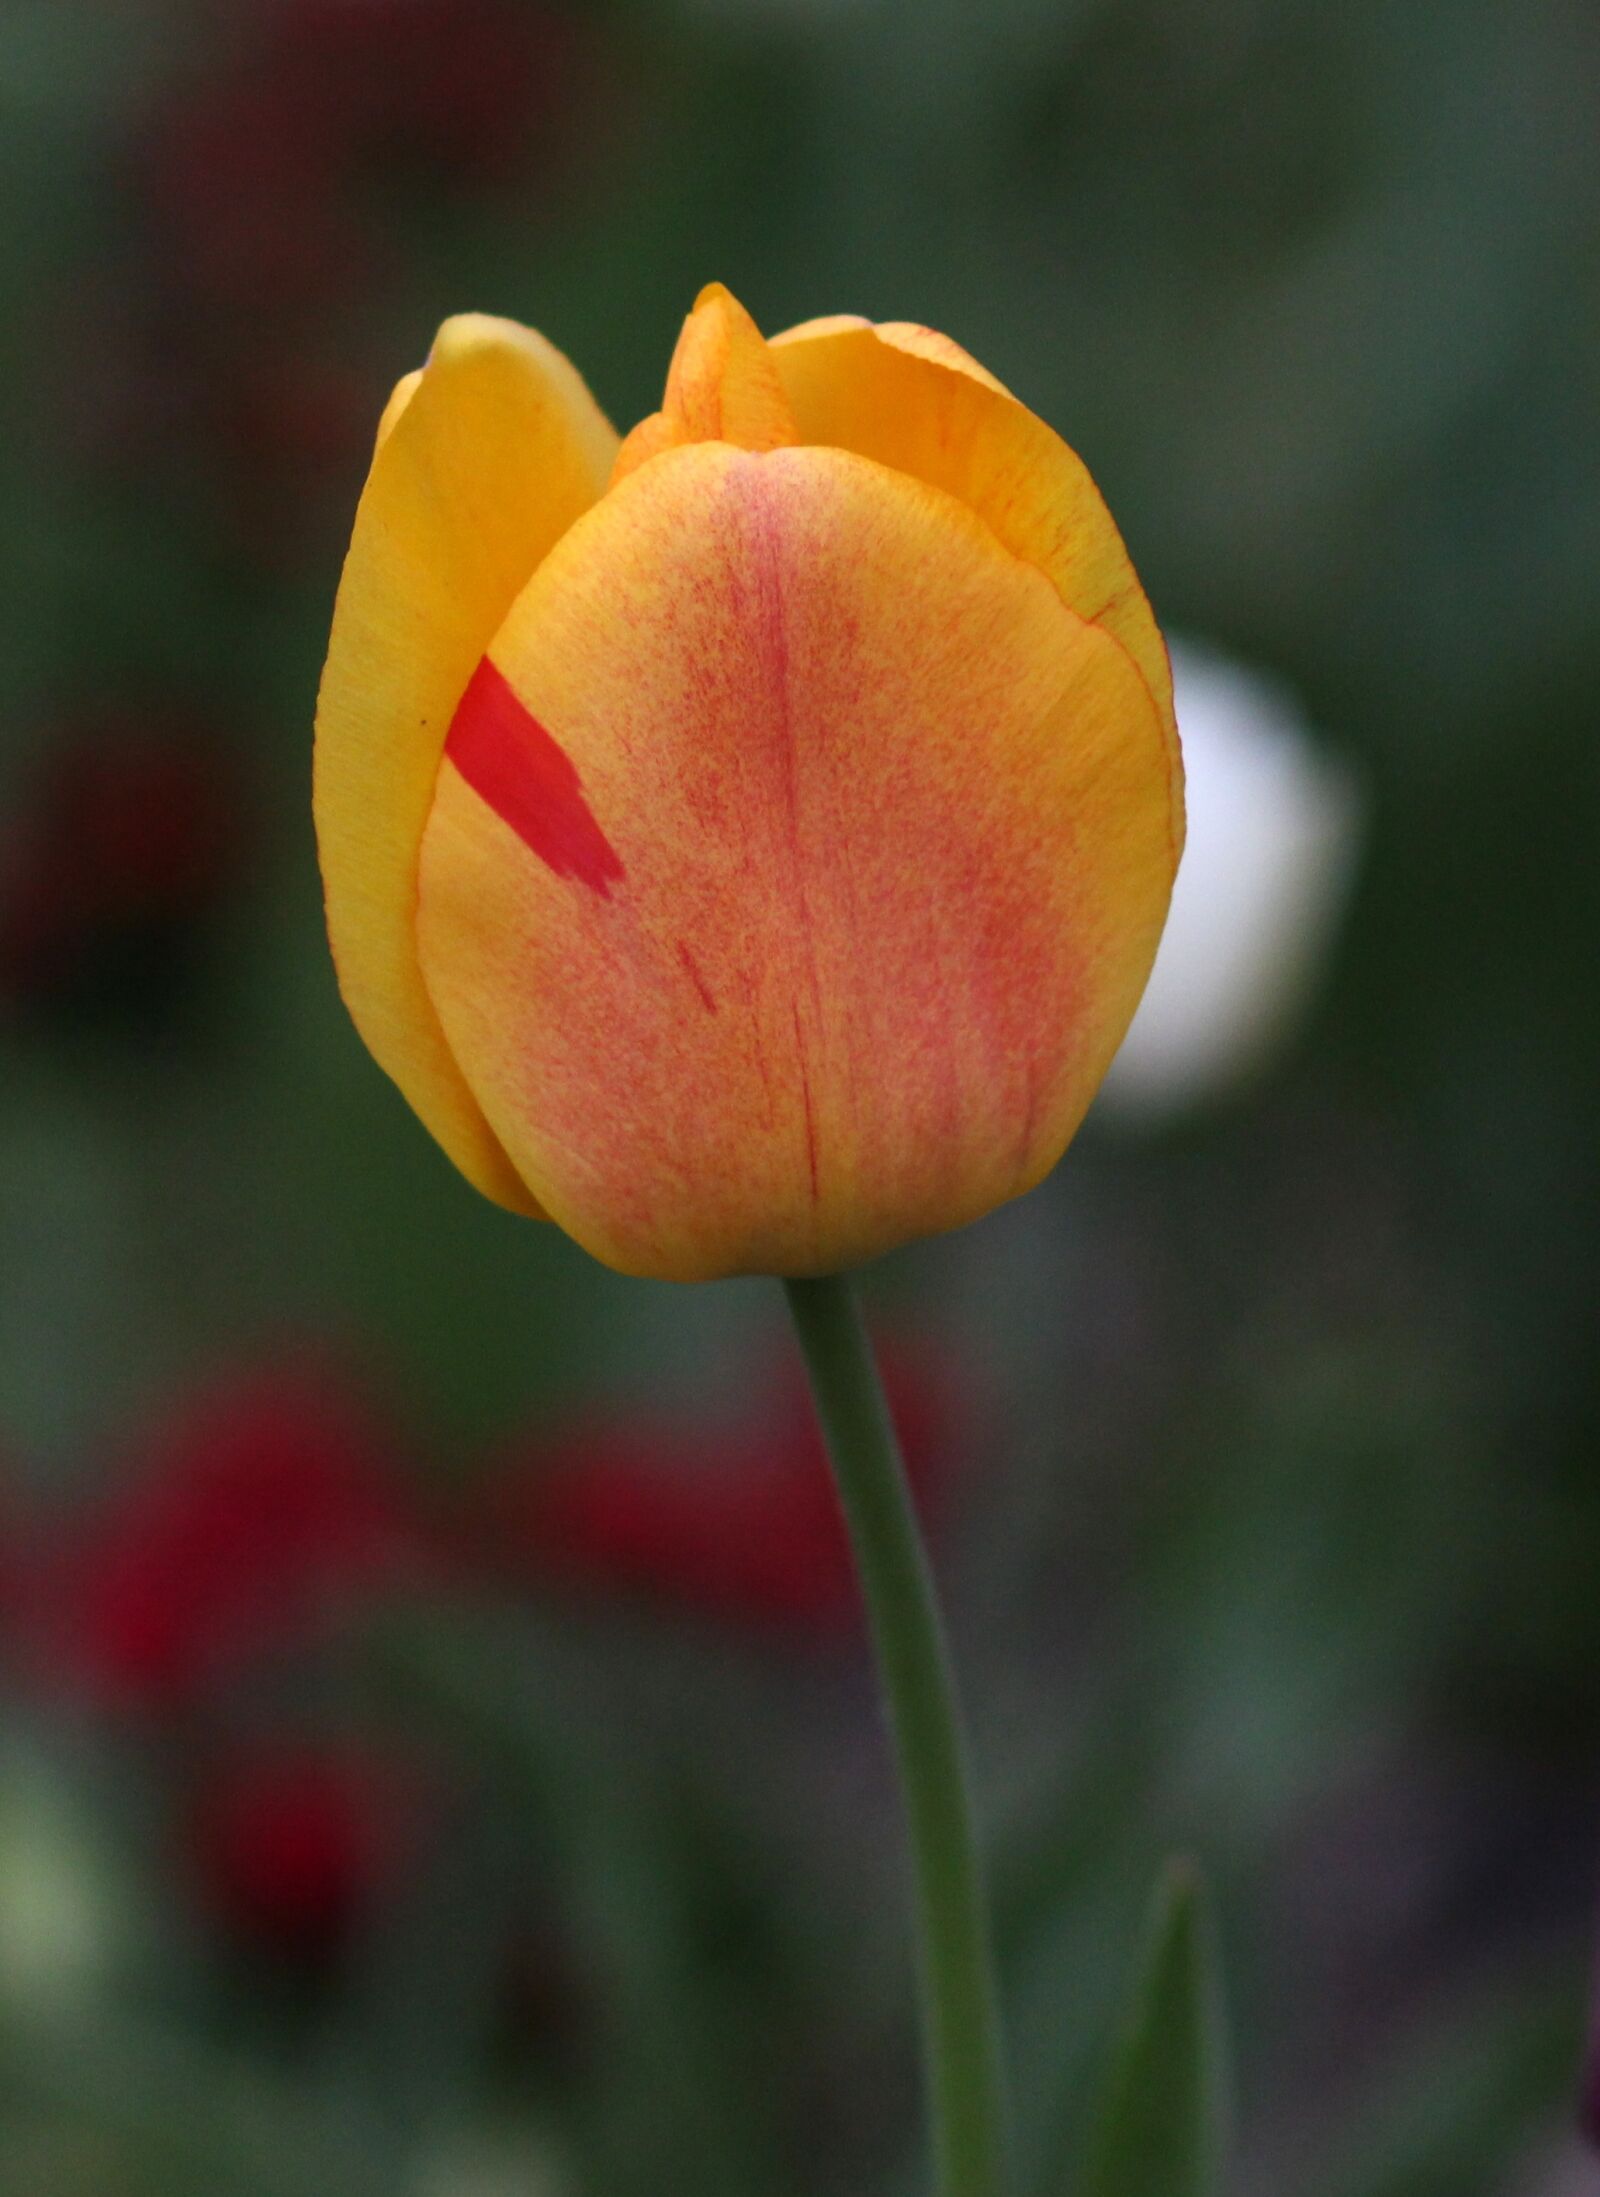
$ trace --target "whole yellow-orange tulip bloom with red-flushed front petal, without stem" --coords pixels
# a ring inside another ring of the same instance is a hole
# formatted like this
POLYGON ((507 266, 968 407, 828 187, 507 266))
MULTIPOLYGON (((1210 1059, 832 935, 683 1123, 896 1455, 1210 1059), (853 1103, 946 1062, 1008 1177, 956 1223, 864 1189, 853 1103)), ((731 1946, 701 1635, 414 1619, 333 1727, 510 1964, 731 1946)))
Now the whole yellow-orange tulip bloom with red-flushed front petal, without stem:
POLYGON ((721 288, 620 444, 510 321, 382 424, 316 714, 338 982, 490 1197, 818 1274, 1062 1156, 1182 846, 1084 464, 949 338, 721 288))

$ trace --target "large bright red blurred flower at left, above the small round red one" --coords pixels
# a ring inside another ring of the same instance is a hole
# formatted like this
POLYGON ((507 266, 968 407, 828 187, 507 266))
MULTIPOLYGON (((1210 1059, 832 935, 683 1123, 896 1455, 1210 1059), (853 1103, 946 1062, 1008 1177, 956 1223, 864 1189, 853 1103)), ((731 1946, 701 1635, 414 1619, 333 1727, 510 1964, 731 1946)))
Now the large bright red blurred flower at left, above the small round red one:
POLYGON ((185 1402, 75 1527, 48 1628, 97 1700, 174 1707, 433 1562, 360 1406, 323 1373, 253 1371, 185 1402))

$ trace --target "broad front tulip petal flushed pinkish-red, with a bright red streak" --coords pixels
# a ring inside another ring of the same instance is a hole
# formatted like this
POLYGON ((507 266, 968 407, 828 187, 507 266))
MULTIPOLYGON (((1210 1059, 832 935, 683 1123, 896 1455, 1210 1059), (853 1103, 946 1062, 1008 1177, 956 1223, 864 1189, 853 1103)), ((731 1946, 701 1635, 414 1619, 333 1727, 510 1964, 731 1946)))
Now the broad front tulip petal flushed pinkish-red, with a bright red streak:
POLYGON ((1165 732, 956 499, 710 442, 538 567, 457 712, 429 991, 541 1204, 635 1274, 824 1272, 1029 1189, 1143 989, 1165 732))

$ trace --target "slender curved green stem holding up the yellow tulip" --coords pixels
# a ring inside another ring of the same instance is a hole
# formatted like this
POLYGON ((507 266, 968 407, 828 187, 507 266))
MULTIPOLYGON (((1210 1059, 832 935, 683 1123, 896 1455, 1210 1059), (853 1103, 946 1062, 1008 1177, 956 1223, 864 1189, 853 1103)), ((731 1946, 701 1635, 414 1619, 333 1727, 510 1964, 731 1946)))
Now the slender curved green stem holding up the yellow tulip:
POLYGON ((873 1351, 842 1274, 789 1281, 866 1597, 916 1889, 938 2197, 1000 2197, 1004 2085, 967 1755, 934 1582, 873 1351))

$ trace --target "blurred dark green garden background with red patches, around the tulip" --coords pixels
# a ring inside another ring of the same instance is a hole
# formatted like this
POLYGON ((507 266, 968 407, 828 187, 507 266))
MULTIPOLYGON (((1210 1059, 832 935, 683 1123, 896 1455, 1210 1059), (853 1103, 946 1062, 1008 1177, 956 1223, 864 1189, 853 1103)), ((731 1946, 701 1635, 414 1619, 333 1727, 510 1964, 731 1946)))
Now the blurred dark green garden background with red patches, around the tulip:
POLYGON ((971 347, 1365 793, 1248 1083, 870 1279, 1024 2197, 1171 1850, 1242 2197, 1596 2186, 1598 112, 1571 0, 0 0, 0 2193, 919 2188, 780 1301, 477 1200, 310 837, 391 380, 626 426, 712 277, 971 347))

